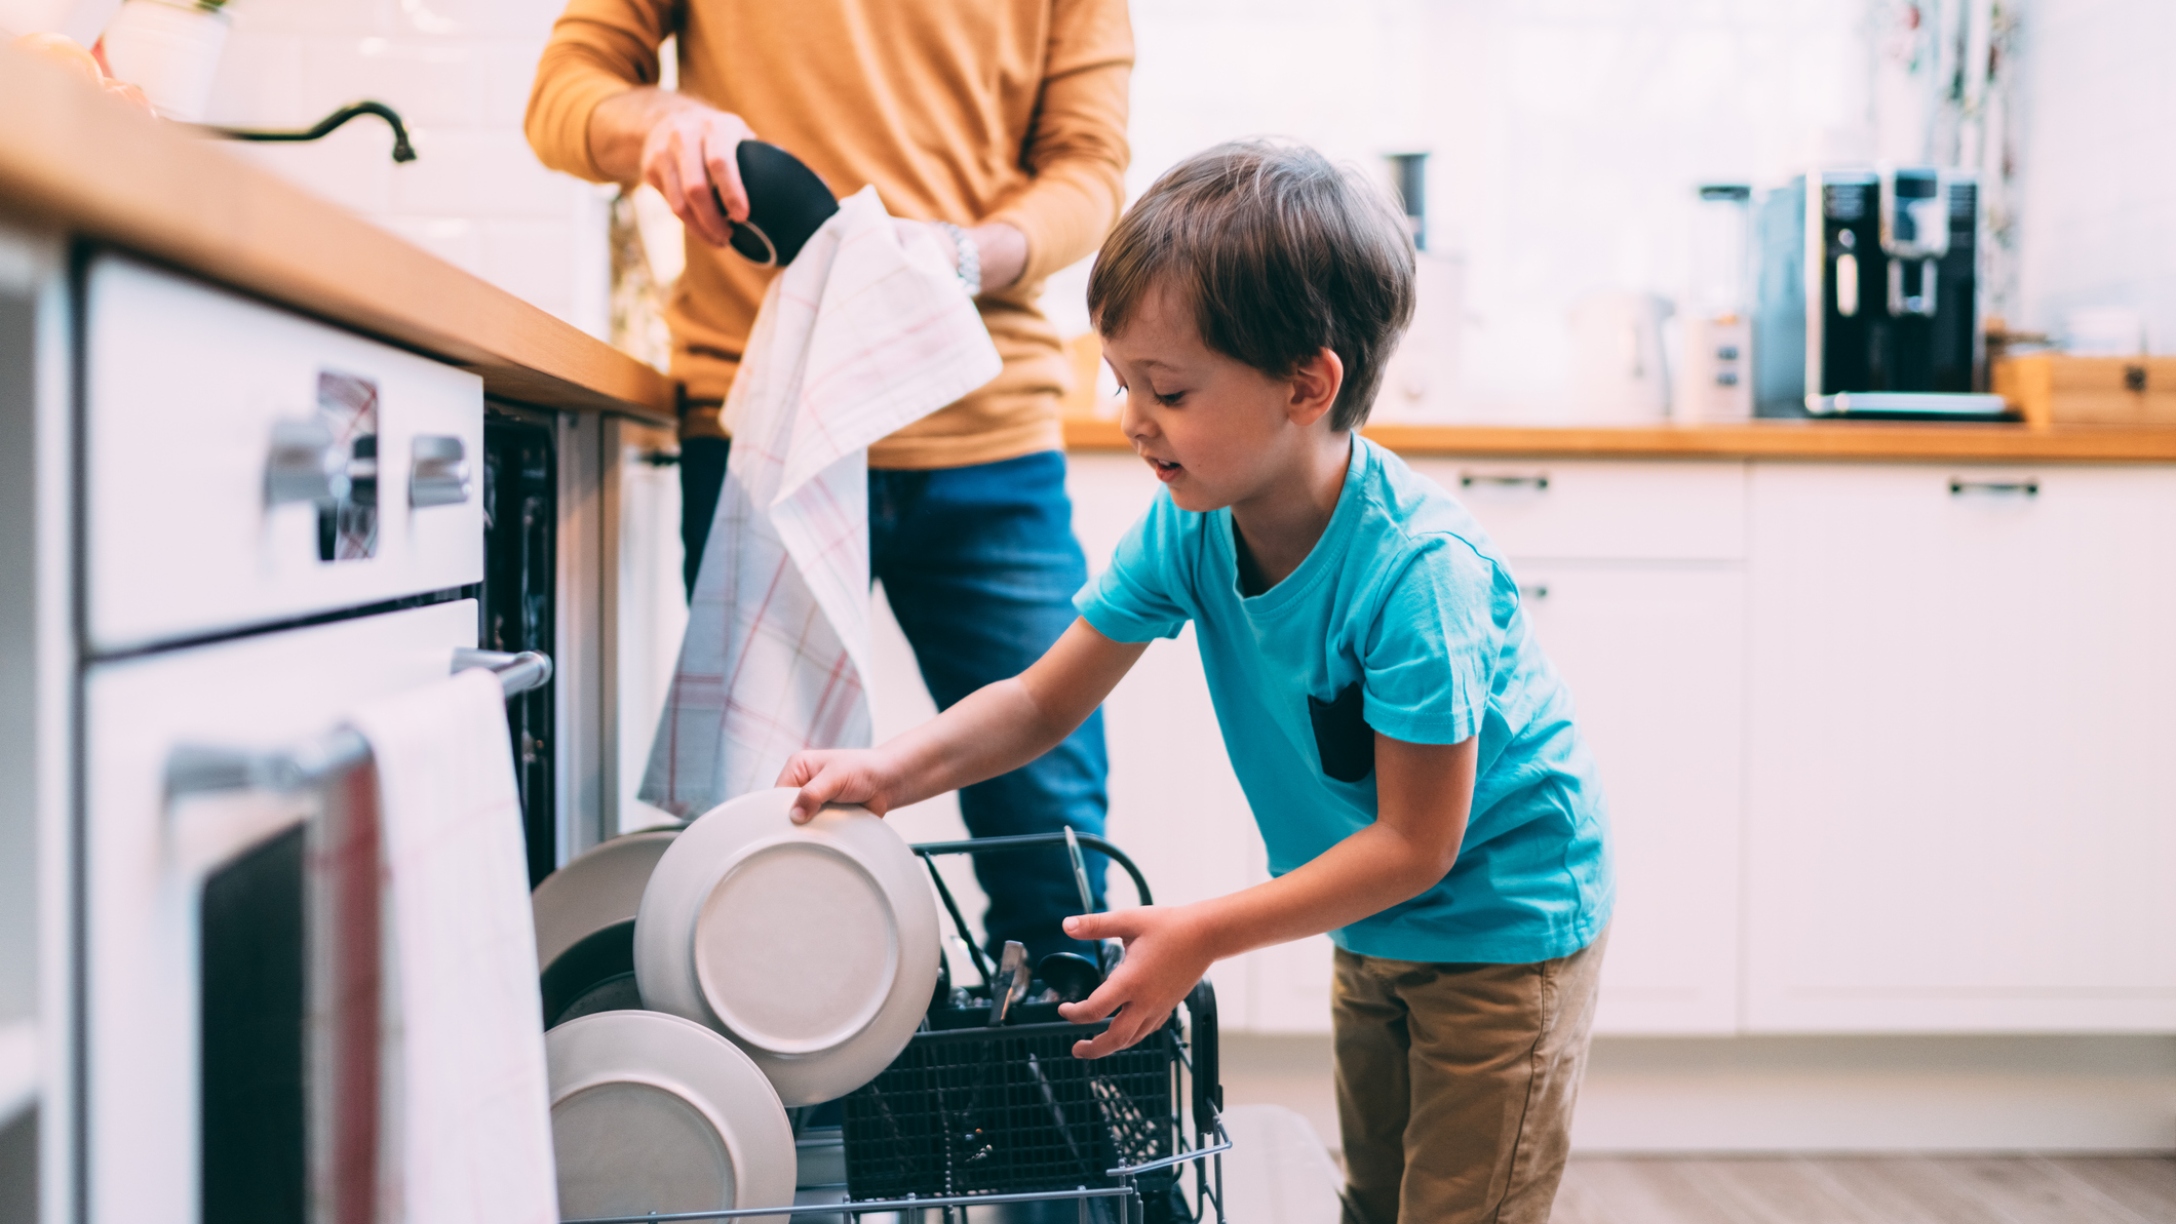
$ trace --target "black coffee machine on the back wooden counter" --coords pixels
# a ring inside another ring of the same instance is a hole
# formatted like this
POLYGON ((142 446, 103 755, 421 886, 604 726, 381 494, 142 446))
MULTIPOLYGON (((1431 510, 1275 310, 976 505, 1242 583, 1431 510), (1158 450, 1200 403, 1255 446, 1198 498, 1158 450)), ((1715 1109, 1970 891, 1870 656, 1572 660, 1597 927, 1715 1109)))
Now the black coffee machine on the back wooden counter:
POLYGON ((1756 416, 2000 418, 1985 394, 1980 187, 1823 170, 1758 205, 1756 416))

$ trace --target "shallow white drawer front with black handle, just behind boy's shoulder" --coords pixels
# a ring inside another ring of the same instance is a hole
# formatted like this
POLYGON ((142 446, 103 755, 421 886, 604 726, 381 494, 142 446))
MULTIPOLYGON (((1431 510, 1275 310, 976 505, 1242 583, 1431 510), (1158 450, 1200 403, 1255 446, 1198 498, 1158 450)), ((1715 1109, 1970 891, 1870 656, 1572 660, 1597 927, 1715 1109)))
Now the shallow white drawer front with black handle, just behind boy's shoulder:
POLYGON ((1745 555, 1745 464, 1410 460, 1506 558, 1728 562, 1745 555))

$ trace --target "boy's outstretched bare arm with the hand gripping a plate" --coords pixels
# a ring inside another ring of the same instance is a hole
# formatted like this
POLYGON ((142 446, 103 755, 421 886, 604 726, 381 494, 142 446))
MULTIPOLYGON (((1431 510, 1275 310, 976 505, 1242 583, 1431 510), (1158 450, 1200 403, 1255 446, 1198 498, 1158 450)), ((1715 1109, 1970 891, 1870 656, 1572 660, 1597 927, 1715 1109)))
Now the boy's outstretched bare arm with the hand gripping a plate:
POLYGON ((968 693, 912 732, 868 749, 799 751, 779 773, 779 786, 801 788, 794 823, 825 804, 883 815, 1018 769, 1088 721, 1145 649, 1073 621, 1027 671, 968 693))

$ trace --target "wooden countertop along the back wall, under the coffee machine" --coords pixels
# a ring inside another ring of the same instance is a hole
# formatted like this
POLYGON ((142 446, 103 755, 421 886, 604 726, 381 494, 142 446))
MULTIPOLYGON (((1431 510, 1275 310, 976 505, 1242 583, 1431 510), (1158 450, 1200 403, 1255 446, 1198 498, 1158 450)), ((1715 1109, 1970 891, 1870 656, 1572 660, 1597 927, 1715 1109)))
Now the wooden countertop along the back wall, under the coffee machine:
MULTIPOLYGON (((1401 455, 1547 460, 1826 460, 2165 464, 2176 427, 1747 420, 1741 425, 1371 425, 1401 455)), ((1066 420, 1071 451, 1132 451, 1116 420, 1066 420)))

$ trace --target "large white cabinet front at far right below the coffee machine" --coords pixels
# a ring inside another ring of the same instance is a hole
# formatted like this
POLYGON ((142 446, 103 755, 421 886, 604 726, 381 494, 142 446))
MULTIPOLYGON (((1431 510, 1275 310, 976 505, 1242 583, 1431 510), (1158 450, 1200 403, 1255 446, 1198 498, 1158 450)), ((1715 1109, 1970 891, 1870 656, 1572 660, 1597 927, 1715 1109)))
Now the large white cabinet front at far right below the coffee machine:
POLYGON ((1750 490, 1747 1028, 2176 1030, 2176 470, 1750 490))

